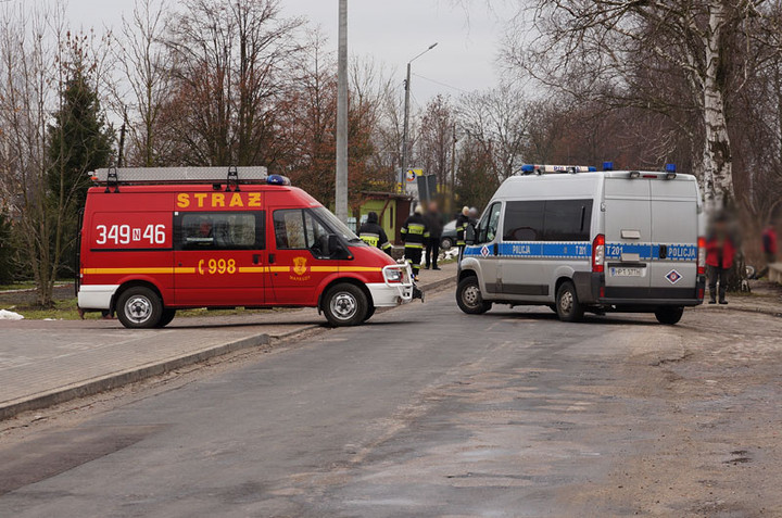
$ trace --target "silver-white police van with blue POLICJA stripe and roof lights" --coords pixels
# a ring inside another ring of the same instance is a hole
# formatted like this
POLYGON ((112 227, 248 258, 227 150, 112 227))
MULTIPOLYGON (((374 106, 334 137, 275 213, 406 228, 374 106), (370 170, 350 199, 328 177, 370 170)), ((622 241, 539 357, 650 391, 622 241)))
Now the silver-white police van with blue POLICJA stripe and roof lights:
POLYGON ((695 177, 665 172, 525 165, 487 206, 464 253, 456 300, 544 304, 562 320, 584 312, 654 313, 676 324, 703 303, 703 202, 695 177))

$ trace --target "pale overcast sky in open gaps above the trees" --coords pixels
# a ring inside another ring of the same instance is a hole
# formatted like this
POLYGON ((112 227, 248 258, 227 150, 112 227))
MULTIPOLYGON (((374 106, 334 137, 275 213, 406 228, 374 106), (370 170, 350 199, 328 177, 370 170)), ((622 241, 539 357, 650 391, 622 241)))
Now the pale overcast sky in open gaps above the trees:
MULTIPOLYGON (((349 0, 350 52, 383 63, 402 88, 406 62, 437 41, 436 49, 413 64, 413 73, 427 78, 413 76, 416 105, 437 93, 456 97, 459 90, 489 88, 497 80, 502 20, 509 17, 515 3, 502 1, 494 3, 500 7, 493 12, 476 7, 466 13, 450 0, 349 0)), ((280 4, 286 15, 303 15, 320 25, 336 50, 337 0, 281 0, 280 4)), ((68 0, 67 5, 74 27, 100 28, 118 25, 122 13, 133 11, 134 1, 68 0)))

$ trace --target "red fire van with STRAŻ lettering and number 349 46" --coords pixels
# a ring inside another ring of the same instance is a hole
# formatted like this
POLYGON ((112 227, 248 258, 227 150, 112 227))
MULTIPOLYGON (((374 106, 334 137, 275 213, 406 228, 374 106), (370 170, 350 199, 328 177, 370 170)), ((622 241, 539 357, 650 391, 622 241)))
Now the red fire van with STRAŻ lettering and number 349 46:
POLYGON ((265 167, 92 174, 79 233, 78 305, 129 328, 188 307, 317 307, 333 326, 413 298, 407 265, 366 245, 265 167))

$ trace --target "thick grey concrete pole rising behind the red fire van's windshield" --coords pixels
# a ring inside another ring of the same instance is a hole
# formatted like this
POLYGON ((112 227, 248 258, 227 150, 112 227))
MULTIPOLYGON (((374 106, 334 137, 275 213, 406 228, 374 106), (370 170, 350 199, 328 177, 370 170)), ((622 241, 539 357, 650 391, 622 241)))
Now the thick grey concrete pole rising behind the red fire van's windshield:
POLYGON ((348 0, 339 0, 337 65, 337 217, 348 223, 348 0))

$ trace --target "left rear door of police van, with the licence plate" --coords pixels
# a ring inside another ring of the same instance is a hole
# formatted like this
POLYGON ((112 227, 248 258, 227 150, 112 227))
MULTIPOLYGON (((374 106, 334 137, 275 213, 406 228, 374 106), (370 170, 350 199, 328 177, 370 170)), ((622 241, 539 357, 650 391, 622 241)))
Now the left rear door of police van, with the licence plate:
POLYGON ((649 180, 605 181, 605 283, 607 298, 644 298, 651 287, 649 180))

